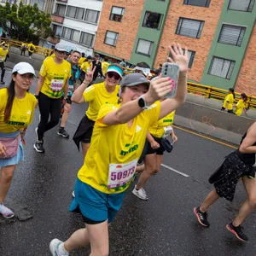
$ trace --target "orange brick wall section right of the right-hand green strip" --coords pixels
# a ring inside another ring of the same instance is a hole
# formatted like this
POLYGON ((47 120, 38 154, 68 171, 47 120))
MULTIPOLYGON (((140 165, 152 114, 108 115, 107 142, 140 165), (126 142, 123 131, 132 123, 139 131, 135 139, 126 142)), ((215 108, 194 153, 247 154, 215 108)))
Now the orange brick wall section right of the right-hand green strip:
POLYGON ((235 90, 256 96, 256 26, 247 45, 247 52, 241 64, 235 90), (254 64, 253 64, 254 63, 254 64))

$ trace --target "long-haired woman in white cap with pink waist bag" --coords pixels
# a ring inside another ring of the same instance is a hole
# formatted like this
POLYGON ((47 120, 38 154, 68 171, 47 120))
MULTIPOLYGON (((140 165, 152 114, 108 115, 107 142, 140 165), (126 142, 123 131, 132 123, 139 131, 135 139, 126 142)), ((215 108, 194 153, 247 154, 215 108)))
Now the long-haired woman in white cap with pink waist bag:
POLYGON ((12 71, 9 87, 0 90, 0 213, 4 218, 15 216, 3 201, 9 190, 15 168, 24 159, 21 141, 27 125, 32 123, 37 99, 28 90, 35 76, 33 67, 20 62, 12 71))

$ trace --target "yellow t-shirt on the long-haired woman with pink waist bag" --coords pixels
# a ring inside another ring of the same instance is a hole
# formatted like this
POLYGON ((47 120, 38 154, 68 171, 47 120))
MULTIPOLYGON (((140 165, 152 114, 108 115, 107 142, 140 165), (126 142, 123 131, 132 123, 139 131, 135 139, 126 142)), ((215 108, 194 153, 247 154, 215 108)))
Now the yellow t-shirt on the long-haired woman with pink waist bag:
POLYGON ((15 97, 10 118, 4 122, 4 110, 7 104, 8 91, 6 88, 0 90, 0 131, 4 133, 18 131, 32 123, 34 109, 37 99, 30 92, 26 92, 23 99, 15 97))

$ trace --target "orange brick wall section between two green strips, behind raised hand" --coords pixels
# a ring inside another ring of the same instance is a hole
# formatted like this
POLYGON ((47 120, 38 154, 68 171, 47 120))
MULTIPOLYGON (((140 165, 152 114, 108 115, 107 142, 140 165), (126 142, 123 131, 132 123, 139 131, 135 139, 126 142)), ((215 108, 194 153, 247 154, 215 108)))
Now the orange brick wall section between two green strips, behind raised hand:
POLYGON ((195 60, 189 71, 189 79, 200 82, 223 4, 224 0, 212 0, 209 8, 203 8, 183 5, 183 0, 172 0, 166 17, 166 26, 162 33, 154 67, 159 67, 159 64, 166 60, 168 44, 176 42, 182 44, 183 47, 186 46, 188 49, 195 51, 195 60), (196 39, 176 35, 175 32, 179 17, 205 20, 201 38, 196 39))

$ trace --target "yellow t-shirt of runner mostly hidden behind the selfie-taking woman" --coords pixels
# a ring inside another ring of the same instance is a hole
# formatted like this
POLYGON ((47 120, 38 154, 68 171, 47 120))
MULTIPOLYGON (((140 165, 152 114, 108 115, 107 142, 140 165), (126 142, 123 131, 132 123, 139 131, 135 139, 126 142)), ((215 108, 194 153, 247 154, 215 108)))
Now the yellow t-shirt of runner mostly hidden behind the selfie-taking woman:
POLYGON ((175 111, 173 111, 172 113, 168 113, 166 117, 158 120, 156 123, 149 126, 149 133, 154 137, 163 137, 163 135, 165 135, 165 133, 169 131, 168 129, 165 130, 165 128, 170 127, 173 124, 174 115, 175 111))

